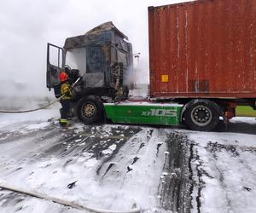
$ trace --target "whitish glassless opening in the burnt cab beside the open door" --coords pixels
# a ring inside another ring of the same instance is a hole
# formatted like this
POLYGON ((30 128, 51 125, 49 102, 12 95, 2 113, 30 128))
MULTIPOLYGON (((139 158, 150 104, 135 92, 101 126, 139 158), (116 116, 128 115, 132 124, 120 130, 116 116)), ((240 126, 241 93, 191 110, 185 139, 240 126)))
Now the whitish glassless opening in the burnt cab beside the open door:
POLYGON ((78 69, 80 74, 86 71, 86 49, 67 49, 66 65, 72 69, 78 69))

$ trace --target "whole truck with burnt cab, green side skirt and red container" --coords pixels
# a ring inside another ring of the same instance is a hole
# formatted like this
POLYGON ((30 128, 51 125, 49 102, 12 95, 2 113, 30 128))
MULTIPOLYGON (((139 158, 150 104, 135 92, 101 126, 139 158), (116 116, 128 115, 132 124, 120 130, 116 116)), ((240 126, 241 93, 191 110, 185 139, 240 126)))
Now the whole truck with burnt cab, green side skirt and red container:
POLYGON ((254 0, 148 7, 148 98, 129 96, 132 45, 112 22, 67 38, 63 48, 48 43, 47 87, 58 97, 61 70, 71 83, 82 76, 73 105, 84 124, 109 119, 214 130, 236 116, 237 106, 256 110, 255 18, 254 0))

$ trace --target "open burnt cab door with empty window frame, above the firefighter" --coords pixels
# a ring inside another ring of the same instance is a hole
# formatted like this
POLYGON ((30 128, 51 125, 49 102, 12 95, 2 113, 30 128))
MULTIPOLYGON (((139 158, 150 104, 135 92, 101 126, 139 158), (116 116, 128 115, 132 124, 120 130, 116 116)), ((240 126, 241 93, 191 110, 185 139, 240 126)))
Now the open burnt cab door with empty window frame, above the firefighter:
POLYGON ((54 44, 47 43, 47 73, 46 85, 47 88, 56 88, 60 86, 58 78, 61 69, 65 65, 64 49, 55 46, 54 44))

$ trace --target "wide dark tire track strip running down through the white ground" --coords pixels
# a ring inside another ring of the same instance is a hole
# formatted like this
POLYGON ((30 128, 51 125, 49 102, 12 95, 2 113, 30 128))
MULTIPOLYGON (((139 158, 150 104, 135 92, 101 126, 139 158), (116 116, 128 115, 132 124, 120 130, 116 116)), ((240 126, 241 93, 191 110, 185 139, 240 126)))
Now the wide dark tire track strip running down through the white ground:
POLYGON ((172 132, 166 140, 167 152, 163 176, 159 187, 160 205, 173 212, 190 212, 191 194, 195 190, 193 170, 190 162, 193 143, 177 132, 172 132))

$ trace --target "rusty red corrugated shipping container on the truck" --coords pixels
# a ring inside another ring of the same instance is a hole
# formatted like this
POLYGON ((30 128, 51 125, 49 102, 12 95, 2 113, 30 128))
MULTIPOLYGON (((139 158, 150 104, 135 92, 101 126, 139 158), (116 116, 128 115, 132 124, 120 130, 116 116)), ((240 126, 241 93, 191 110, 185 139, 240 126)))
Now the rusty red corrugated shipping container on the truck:
POLYGON ((148 8, 153 97, 256 98, 256 0, 148 8))

